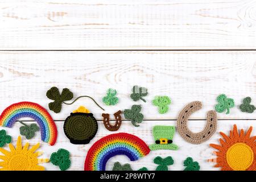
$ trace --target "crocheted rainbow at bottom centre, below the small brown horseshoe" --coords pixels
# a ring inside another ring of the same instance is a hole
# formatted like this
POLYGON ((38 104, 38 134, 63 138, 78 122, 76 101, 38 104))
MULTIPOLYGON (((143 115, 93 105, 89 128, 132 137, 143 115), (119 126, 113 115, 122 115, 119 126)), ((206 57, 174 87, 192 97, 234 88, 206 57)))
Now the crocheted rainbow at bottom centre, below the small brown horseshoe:
POLYGON ((101 138, 88 151, 85 171, 105 171, 106 163, 115 155, 126 155, 131 161, 138 160, 150 152, 142 139, 127 133, 118 133, 101 138))

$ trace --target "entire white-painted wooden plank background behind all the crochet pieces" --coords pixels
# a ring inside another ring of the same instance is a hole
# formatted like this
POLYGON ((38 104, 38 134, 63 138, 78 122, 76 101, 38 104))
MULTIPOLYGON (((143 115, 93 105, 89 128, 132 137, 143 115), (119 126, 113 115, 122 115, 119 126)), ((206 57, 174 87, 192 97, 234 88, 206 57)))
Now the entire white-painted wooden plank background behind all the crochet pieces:
MULTIPOLYGON (((218 131, 227 133, 234 123, 244 129, 256 126, 255 113, 245 114, 238 109, 247 96, 256 104, 255 0, 0 0, 0 23, 0 110, 19 101, 38 102, 48 108, 47 90, 67 87, 75 97, 93 96, 110 114, 142 104, 141 126, 124 121, 117 133, 135 134, 151 144, 152 127, 176 125, 179 111, 188 102, 203 102, 203 109, 189 122, 196 132, 204 128, 205 115, 216 105, 218 94, 234 98, 236 108, 229 115, 218 114, 217 133, 207 142, 189 144, 175 134, 179 150, 152 151, 138 162, 117 156, 109 161, 107 169, 122 161, 134 169, 154 170, 152 160, 159 155, 174 158, 170 170, 183 170, 188 156, 199 162, 202 170, 217 170, 207 159, 214 157, 209 143, 218 143, 218 131), (129 98, 135 84, 148 88, 146 103, 129 98), (117 89, 118 105, 101 102, 108 88, 117 89), (170 96, 172 104, 167 114, 158 114, 152 106, 156 95, 170 96)), ((112 134, 102 124, 102 110, 84 98, 72 106, 64 105, 59 114, 50 113, 59 137, 53 147, 42 142, 44 157, 66 148, 71 152, 70 170, 84 169, 90 146, 112 134), (63 133, 64 119, 80 105, 92 111, 100 126, 87 145, 73 145, 63 133)), ((7 129, 13 143, 19 126, 16 123, 7 129)), ((40 133, 29 140, 32 144, 39 141, 40 133)), ((44 166, 47 170, 58 169, 50 163, 44 166)))

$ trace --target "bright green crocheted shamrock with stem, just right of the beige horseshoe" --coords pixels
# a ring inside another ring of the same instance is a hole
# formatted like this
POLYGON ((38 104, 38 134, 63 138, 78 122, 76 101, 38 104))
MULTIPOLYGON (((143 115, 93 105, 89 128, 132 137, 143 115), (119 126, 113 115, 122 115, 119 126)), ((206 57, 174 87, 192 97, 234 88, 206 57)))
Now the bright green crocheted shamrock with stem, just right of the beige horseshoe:
POLYGON ((215 109, 218 113, 223 113, 225 110, 226 114, 229 114, 229 109, 234 107, 234 100, 233 98, 226 97, 225 94, 220 94, 217 97, 218 104, 215 106, 215 109))

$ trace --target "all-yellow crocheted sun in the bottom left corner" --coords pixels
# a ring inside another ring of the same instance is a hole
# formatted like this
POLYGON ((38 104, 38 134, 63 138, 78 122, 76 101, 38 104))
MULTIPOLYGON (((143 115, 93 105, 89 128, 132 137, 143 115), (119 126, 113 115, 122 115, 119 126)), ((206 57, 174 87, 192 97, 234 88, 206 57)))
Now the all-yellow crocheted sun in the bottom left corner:
POLYGON ((18 137, 16 148, 13 144, 9 144, 10 151, 0 148, 0 171, 44 171, 43 166, 39 166, 40 163, 47 163, 49 159, 38 159, 38 156, 43 152, 35 152, 38 150, 40 143, 32 146, 28 149, 30 144, 26 143, 22 147, 21 138, 18 137))

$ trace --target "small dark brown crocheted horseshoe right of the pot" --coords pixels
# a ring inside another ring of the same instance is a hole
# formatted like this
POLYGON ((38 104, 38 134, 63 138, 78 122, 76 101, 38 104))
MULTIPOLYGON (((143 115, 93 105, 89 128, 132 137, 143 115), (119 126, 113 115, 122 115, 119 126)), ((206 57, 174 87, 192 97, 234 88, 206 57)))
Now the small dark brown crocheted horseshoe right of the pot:
POLYGON ((122 113, 121 110, 118 110, 116 113, 114 113, 114 117, 115 117, 115 125, 114 126, 109 123, 109 114, 102 114, 103 122, 104 122, 106 129, 108 129, 109 131, 117 131, 119 129, 119 127, 122 124, 121 113, 122 113))

